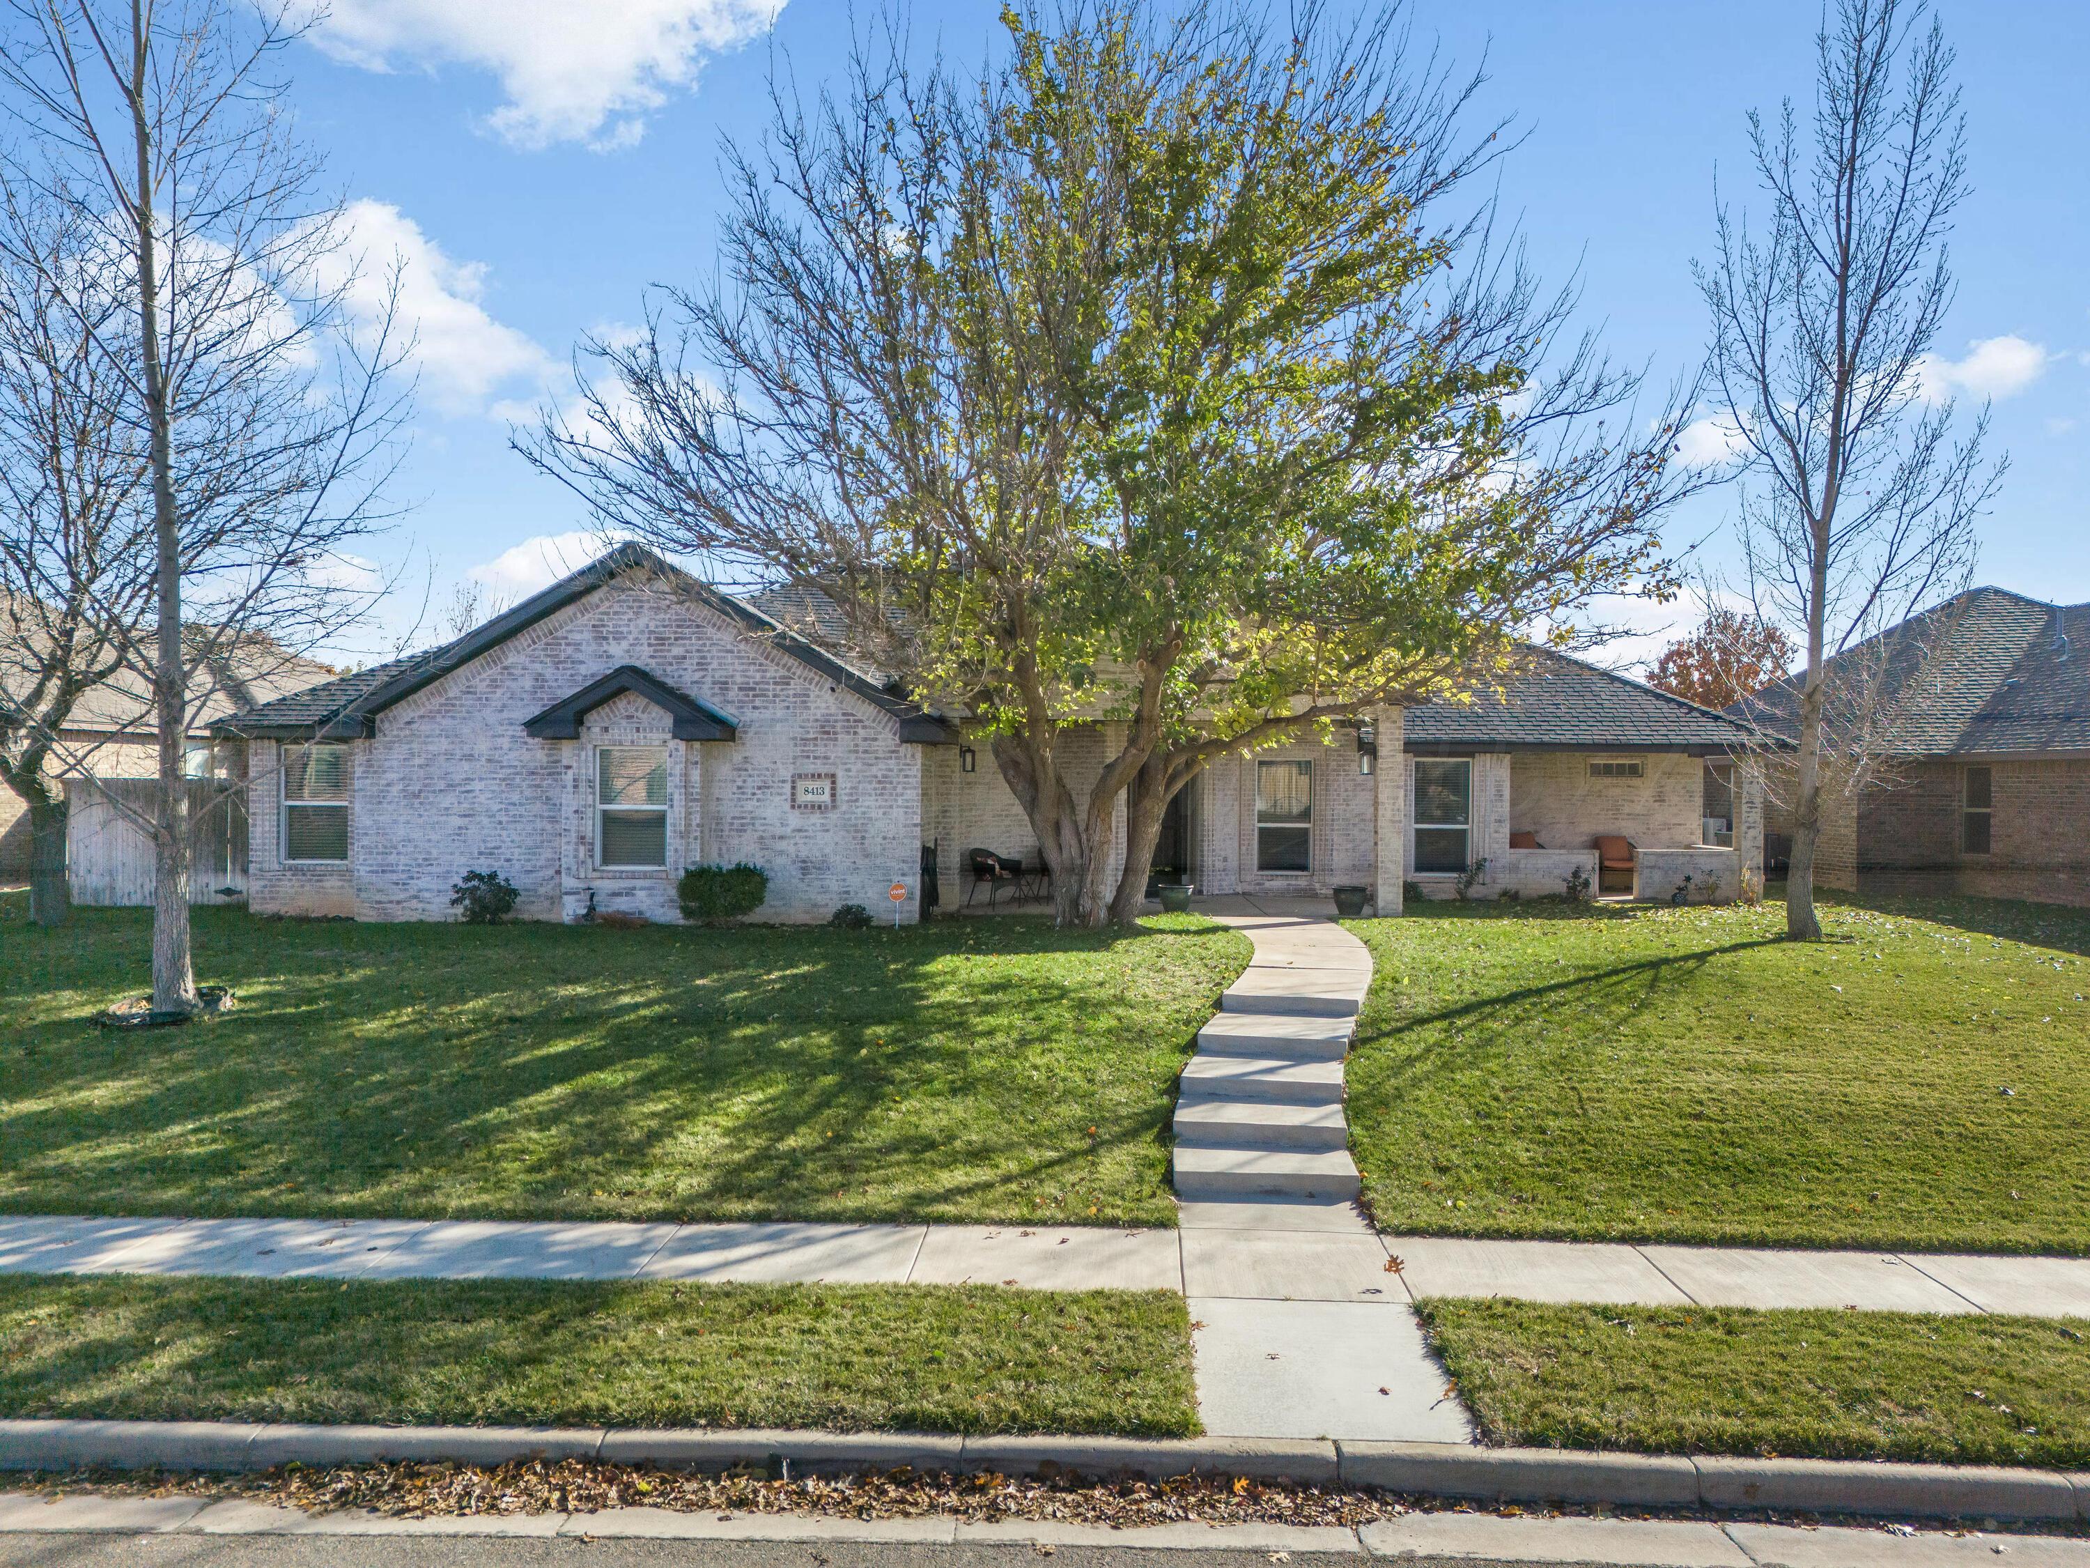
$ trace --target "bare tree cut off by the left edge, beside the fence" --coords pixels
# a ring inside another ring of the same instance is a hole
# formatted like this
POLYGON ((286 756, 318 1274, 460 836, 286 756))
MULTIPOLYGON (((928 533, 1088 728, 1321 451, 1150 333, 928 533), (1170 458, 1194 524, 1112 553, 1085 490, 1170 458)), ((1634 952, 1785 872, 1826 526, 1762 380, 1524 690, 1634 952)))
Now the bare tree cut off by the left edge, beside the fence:
POLYGON ((146 462, 98 351, 121 339, 117 301, 77 320, 54 280, 86 284, 94 230, 56 203, 0 192, 0 782, 29 813, 29 918, 67 909, 59 771, 82 698, 125 675, 121 627, 153 592, 146 462))

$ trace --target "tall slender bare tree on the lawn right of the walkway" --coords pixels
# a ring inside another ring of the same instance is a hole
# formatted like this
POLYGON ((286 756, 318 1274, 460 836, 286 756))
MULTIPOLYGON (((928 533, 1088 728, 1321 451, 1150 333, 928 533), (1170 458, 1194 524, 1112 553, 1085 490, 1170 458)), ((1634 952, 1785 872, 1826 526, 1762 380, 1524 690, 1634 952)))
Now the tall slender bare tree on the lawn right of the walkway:
MULTIPOLYGON (((1814 113, 1749 115, 1770 213, 1724 205, 1697 268, 1712 376, 1745 445, 1743 552, 1768 619, 1806 627, 1793 765, 1787 935, 1818 939, 1814 851, 1825 794, 1879 761, 1875 633, 1963 587, 1973 525, 2002 462, 1988 414, 1954 435, 1923 362, 1952 303, 1946 238, 1967 194, 1952 50, 1923 0, 1837 0, 1816 40, 1814 113)), ((1902 650, 1908 652, 1906 648, 1902 650)))

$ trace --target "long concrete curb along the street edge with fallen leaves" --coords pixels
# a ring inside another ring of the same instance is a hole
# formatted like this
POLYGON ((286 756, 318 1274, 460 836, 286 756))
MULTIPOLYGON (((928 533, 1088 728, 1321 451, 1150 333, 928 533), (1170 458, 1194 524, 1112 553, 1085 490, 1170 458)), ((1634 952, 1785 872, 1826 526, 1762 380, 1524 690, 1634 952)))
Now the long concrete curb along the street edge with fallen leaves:
POLYGON ((257 1426, 0 1420, 0 1470, 270 1470, 378 1459, 604 1459, 771 1474, 993 1470, 1012 1476, 1248 1476, 1503 1503, 2090 1522, 2090 1472, 1856 1459, 1722 1459, 1463 1443, 938 1436, 920 1432, 535 1426, 257 1426))

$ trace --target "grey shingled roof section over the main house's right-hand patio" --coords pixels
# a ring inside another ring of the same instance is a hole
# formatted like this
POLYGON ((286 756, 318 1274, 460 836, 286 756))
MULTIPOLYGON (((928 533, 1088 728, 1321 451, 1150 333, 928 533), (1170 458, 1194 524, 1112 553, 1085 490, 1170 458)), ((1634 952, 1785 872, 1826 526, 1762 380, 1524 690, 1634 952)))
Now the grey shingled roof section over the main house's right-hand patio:
POLYGON ((1689 751, 1758 744, 1743 723, 1626 675, 1526 648, 1517 667, 1465 702, 1427 702, 1402 717, 1402 746, 1448 751, 1689 751))

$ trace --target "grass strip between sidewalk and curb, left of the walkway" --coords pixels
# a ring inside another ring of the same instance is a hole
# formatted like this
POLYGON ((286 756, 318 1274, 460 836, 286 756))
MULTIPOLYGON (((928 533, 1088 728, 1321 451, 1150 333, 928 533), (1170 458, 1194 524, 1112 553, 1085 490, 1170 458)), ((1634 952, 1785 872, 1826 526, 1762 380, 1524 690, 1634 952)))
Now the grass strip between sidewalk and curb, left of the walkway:
POLYGON ((1198 1432, 1166 1292, 0 1277, 0 1415, 1198 1432))

